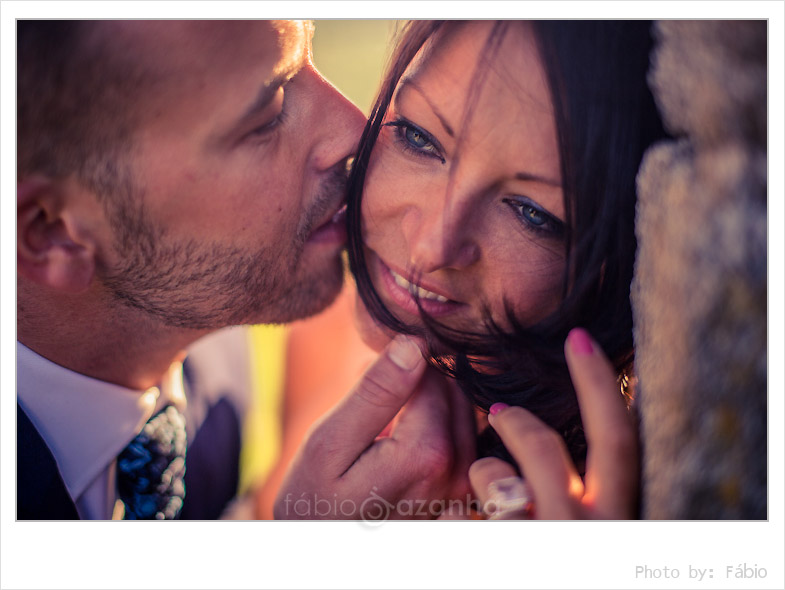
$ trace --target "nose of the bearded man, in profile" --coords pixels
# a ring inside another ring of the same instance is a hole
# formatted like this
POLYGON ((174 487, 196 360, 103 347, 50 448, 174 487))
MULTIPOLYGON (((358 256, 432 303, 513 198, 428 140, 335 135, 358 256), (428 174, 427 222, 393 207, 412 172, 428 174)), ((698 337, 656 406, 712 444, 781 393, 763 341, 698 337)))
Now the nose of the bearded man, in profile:
POLYGON ((312 124, 319 126, 320 141, 310 155, 317 170, 343 163, 357 150, 366 118, 348 98, 313 69, 309 91, 315 104, 312 124))

